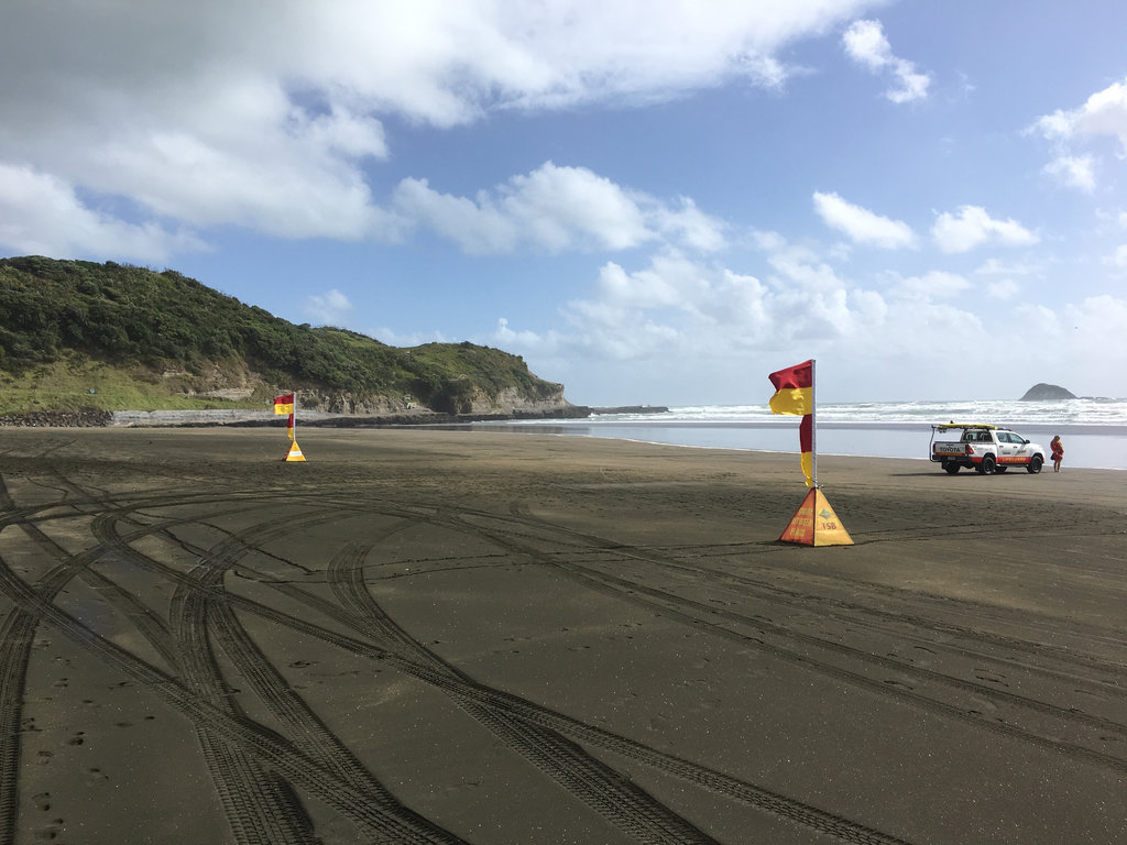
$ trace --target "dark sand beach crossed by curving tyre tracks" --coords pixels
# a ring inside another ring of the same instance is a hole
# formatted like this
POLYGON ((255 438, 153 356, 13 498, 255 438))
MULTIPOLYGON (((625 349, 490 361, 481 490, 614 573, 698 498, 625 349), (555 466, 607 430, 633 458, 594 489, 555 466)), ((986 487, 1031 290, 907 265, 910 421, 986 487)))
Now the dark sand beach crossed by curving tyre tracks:
POLYGON ((300 442, 0 434, 0 845, 1127 842, 1124 473, 300 442))

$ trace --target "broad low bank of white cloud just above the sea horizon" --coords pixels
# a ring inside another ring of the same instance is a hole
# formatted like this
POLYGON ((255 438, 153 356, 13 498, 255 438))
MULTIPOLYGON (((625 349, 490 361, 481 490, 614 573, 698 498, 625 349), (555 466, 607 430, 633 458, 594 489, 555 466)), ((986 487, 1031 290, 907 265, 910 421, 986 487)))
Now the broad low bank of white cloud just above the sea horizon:
POLYGON ((825 401, 921 398, 906 391, 905 372, 932 385, 926 398, 997 398, 997 382, 952 385, 950 357, 937 350, 974 349, 992 364, 1020 361, 1024 370, 1011 374, 1019 380, 1026 372, 1127 366, 1121 297, 1044 308, 1019 297, 1017 283, 999 277, 997 263, 984 265, 975 282, 939 269, 886 273, 859 286, 824 256, 770 234, 761 240, 770 278, 676 254, 637 267, 609 263, 589 295, 568 303, 559 330, 521 331, 504 321, 479 341, 525 355, 534 372, 568 384, 573 401, 596 404, 765 402, 767 363, 805 357, 818 358, 825 401), (992 302, 1006 302, 1005 319, 983 318, 983 297, 968 294, 978 286, 992 302), (584 392, 571 381, 580 375, 584 392))

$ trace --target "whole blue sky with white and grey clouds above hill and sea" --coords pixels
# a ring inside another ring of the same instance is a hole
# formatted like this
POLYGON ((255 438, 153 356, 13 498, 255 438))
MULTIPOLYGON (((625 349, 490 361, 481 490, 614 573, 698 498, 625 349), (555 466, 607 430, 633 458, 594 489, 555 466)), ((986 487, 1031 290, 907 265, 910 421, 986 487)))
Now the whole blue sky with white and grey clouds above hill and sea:
POLYGON ((5 0, 0 256, 579 404, 1127 397, 1127 5, 5 0))

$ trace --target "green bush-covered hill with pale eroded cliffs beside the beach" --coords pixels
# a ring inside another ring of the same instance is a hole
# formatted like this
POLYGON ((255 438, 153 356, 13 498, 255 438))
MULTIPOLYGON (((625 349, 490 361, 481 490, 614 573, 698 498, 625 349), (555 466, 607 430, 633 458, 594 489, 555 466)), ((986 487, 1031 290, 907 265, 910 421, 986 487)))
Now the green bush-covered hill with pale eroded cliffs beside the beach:
POLYGON ((295 326, 175 270, 0 259, 0 413, 264 409, 290 390, 353 413, 567 404, 499 349, 295 326))

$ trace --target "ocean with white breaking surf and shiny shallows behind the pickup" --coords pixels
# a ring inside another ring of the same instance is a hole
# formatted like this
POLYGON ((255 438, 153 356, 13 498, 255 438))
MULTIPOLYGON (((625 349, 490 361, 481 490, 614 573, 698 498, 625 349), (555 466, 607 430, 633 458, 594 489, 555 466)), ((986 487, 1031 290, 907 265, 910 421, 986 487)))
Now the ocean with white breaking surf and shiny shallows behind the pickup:
MULTIPOLYGON (((857 402, 819 403, 819 455, 928 460, 932 425, 988 422, 1039 443, 1061 435, 1064 469, 1127 470, 1127 400, 1070 399, 1051 402, 857 402)), ((659 413, 603 413, 574 420, 477 422, 476 429, 609 437, 701 448, 798 452, 798 418, 763 404, 691 406, 659 413)), ((937 471, 939 465, 935 464, 937 471)), ((1051 464, 1049 464, 1051 470, 1051 464)))

